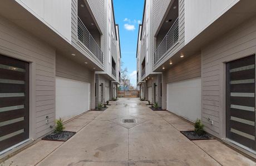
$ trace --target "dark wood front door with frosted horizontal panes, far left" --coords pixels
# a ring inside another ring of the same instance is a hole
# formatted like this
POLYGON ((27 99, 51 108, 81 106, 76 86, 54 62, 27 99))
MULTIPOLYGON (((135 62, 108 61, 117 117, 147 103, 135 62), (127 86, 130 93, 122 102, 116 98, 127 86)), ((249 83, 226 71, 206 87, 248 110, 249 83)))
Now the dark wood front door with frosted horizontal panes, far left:
POLYGON ((29 64, 0 55, 0 151, 29 134, 29 64))

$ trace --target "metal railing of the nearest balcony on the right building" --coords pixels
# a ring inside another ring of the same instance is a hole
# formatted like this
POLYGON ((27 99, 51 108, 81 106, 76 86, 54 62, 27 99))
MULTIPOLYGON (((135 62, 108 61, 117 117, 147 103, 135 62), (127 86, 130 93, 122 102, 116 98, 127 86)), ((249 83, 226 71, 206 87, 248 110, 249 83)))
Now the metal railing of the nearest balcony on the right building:
POLYGON ((165 35, 162 42, 159 44, 154 53, 154 64, 156 64, 162 56, 168 51, 179 39, 179 18, 177 18, 174 24, 165 35))

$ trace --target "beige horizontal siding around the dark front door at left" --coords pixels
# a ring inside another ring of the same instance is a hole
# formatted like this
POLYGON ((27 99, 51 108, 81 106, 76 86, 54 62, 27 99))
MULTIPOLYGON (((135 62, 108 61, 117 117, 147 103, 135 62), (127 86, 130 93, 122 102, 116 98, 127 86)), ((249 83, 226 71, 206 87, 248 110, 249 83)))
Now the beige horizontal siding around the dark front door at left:
POLYGON ((34 138, 50 132, 55 120, 55 50, 0 17, 0 53, 31 63, 30 132, 34 138), (46 116, 50 118, 48 125, 46 116))

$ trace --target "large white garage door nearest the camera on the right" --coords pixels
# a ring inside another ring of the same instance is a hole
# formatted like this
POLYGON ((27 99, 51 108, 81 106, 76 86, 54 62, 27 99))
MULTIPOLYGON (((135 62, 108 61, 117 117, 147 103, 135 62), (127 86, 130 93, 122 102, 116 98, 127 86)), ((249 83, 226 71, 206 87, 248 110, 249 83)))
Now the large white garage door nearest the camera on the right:
POLYGON ((167 110, 189 121, 201 118, 201 78, 167 85, 167 110))

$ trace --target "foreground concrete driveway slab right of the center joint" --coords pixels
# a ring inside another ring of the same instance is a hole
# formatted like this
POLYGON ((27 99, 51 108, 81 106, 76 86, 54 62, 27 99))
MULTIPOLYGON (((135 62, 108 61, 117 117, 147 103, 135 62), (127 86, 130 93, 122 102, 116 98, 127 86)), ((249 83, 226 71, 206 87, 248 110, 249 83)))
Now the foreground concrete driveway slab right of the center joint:
POLYGON ((165 120, 146 121, 129 136, 129 165, 219 165, 165 120))

